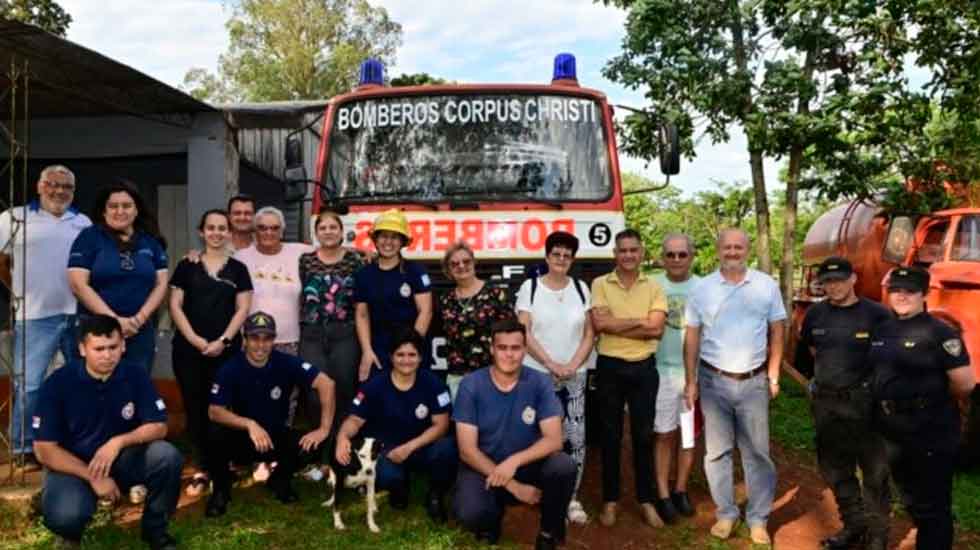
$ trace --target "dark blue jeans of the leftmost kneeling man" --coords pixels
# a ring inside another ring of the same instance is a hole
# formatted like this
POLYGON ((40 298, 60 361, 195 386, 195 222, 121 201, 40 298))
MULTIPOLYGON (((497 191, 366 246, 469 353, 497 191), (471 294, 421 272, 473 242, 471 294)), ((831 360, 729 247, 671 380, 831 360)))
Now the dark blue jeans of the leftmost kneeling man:
MULTIPOLYGON (((122 495, 133 485, 146 485, 146 506, 141 521, 143 534, 157 537, 167 529, 167 521, 177 509, 180 496, 180 469, 183 457, 166 441, 127 447, 112 463, 109 476, 122 495)), ((79 541, 98 502, 92 486, 80 477, 47 471, 41 494, 44 525, 54 534, 79 541)))

